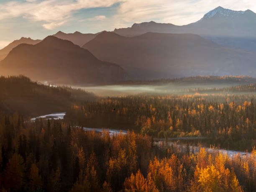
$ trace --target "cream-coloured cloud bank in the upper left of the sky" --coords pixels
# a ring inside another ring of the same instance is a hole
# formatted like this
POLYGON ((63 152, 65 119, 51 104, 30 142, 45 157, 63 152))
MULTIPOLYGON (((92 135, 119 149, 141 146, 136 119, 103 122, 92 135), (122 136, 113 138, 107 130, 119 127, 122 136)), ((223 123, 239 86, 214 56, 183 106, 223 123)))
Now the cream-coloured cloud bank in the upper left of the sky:
MULTIPOLYGON (((110 7, 121 0, 44 0, 29 2, 9 1, 0 4, 0 20, 22 16, 33 21, 43 21, 43 27, 53 29, 72 17, 72 12, 87 8, 110 7)), ((101 18, 95 19, 102 19, 101 18)))

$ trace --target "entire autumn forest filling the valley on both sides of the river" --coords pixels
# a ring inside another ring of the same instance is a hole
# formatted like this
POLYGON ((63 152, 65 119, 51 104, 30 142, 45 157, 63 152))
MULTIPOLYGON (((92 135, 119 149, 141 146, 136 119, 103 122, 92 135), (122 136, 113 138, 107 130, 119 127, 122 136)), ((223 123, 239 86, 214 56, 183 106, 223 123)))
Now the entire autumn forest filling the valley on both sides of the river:
MULTIPOLYGON (((256 191, 256 98, 187 93, 98 97, 71 87, 0 78, 0 190, 256 191), (64 120, 36 119, 65 111, 64 120), (33 116, 35 117, 35 116, 33 116), (82 127, 128 130, 110 135, 82 127), (209 138, 190 151, 153 138, 209 138), (228 156, 214 148, 248 151, 228 156)), ((227 88, 228 89, 228 88, 227 88)))

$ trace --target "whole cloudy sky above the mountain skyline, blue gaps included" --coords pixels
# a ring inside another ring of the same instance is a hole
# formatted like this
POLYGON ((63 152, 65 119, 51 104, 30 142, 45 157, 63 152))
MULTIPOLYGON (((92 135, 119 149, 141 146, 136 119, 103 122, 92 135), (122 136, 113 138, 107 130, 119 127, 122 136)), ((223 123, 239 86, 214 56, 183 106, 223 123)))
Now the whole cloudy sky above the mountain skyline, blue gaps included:
POLYGON ((58 31, 97 33, 151 20, 186 25, 218 6, 256 12, 255 0, 0 0, 0 49, 58 31))

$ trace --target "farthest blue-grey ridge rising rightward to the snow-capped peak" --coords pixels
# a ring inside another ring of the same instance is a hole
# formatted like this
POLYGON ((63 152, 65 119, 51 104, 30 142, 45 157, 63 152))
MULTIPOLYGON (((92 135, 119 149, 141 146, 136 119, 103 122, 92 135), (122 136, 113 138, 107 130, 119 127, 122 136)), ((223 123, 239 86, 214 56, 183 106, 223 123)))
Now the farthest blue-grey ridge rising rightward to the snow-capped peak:
POLYGON ((170 23, 135 23, 130 28, 115 29, 121 36, 137 36, 146 32, 194 33, 220 45, 256 51, 256 13, 234 11, 222 7, 206 13, 200 20, 184 26, 170 23))

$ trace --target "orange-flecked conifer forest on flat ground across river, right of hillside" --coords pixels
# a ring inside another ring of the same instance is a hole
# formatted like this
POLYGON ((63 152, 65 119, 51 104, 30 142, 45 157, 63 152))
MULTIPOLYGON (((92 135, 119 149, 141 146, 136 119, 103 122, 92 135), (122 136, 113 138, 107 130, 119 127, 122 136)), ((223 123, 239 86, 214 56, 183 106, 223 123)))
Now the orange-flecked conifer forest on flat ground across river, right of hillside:
POLYGON ((74 105, 65 120, 159 138, 207 136, 208 146, 250 151, 256 145, 255 106, 253 94, 108 97, 74 105))

